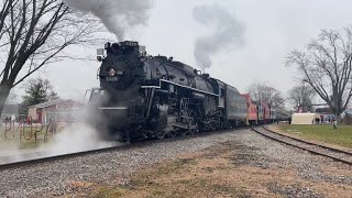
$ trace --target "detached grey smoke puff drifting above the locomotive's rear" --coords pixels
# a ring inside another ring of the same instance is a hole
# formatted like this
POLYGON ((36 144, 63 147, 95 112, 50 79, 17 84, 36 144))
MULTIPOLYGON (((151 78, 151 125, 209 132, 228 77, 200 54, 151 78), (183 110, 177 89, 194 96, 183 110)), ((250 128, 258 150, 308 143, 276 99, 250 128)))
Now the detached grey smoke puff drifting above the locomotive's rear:
POLYGON ((195 42, 195 59, 202 69, 211 66, 213 54, 244 45, 244 25, 219 6, 194 8, 194 19, 215 30, 211 35, 195 42))

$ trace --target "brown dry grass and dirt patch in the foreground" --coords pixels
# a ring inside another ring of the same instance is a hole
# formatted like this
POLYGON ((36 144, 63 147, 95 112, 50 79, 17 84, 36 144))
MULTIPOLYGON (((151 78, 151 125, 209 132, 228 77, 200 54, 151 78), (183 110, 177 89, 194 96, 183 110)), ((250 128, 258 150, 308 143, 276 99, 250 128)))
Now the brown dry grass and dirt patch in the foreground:
MULTIPOLYGON (((73 182, 69 197, 352 197, 352 185, 304 177, 295 166, 268 166, 255 147, 229 141, 175 161, 145 167, 109 186, 73 182)), ((270 158, 266 158, 270 161, 270 158)), ((352 176, 327 166, 329 177, 352 176)))

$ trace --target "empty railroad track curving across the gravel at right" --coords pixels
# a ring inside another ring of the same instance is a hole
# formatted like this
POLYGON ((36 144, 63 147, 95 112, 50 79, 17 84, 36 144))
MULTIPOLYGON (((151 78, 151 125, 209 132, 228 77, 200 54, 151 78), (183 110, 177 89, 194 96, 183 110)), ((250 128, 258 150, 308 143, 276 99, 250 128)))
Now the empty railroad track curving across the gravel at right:
POLYGON ((352 165, 352 152, 342 151, 342 150, 316 144, 312 142, 304 141, 300 139, 296 139, 293 136, 288 136, 285 134, 280 134, 280 133, 274 132, 272 130, 268 130, 265 127, 252 128, 252 130, 255 131, 256 133, 260 133, 268 139, 277 141, 277 142, 308 151, 308 152, 316 154, 316 155, 326 156, 326 157, 332 158, 333 161, 337 161, 337 162, 352 165))

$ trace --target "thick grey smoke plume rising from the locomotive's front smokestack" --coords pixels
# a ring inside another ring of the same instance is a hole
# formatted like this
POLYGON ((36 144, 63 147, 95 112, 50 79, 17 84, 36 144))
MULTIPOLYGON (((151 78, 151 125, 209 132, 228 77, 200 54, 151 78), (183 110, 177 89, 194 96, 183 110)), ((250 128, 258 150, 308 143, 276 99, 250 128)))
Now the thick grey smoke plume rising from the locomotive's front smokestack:
POLYGON ((64 0, 73 10, 92 13, 99 18, 109 32, 119 41, 124 40, 125 31, 146 25, 150 0, 64 0))

